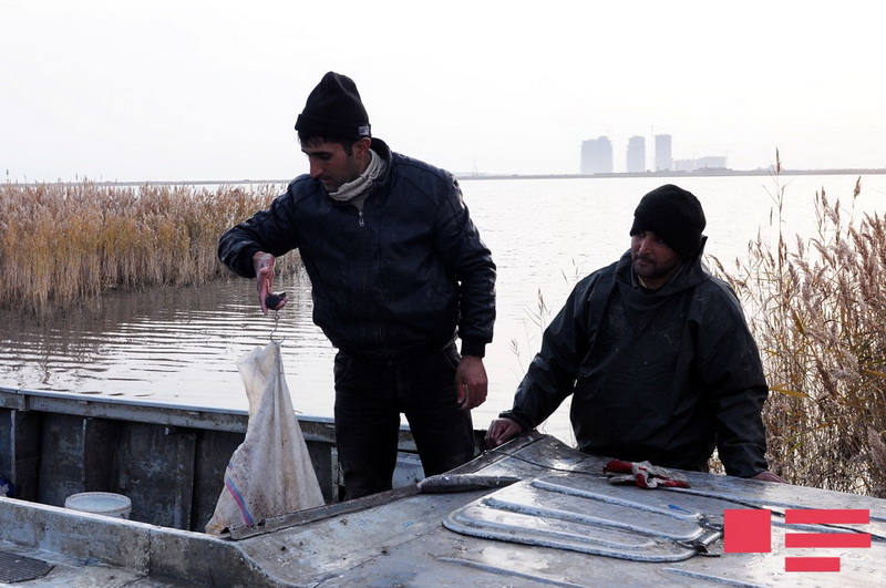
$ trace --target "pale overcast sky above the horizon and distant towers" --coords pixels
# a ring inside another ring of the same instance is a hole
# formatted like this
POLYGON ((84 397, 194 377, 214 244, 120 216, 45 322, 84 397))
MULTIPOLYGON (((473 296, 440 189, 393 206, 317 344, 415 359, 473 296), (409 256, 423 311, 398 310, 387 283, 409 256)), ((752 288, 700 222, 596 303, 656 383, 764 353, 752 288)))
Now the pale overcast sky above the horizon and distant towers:
POLYGON ((286 179, 329 70, 373 134, 455 173, 576 174, 670 134, 735 169, 886 167, 869 1, 0 0, 13 182, 286 179))

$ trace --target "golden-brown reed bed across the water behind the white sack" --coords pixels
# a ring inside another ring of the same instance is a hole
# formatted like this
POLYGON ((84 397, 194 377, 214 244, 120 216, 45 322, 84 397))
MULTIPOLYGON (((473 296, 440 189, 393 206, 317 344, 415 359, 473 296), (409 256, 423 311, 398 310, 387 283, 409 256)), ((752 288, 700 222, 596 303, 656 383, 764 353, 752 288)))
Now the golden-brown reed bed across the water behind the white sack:
MULTIPOLYGON (((110 288, 199 286, 227 276, 218 238, 266 207, 272 190, 2 184, 0 308, 44 314, 110 288)), ((298 262, 286 256, 278 268, 298 262)))

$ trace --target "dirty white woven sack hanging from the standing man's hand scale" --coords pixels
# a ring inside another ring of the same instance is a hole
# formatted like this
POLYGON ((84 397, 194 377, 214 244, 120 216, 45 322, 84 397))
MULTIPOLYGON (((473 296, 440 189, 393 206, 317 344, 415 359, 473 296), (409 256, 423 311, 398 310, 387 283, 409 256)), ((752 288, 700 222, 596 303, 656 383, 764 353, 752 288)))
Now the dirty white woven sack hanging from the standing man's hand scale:
POLYGON ((237 360, 237 368, 249 399, 249 424, 206 525, 213 535, 323 504, 286 385, 280 344, 254 349, 237 360))

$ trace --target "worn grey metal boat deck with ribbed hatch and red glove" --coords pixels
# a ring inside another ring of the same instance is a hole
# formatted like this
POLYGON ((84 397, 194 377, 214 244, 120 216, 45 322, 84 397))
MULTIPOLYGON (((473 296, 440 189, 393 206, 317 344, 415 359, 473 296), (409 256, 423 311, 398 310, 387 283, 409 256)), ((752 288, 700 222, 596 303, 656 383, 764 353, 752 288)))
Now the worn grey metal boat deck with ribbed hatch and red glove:
POLYGON ((408 485, 222 537, 0 498, 0 553, 54 565, 21 586, 844 587, 886 580, 886 501, 701 473, 686 473, 688 489, 642 489, 610 484, 605 462, 534 433, 452 473, 519 479, 512 485, 443 493, 408 485), (760 508, 772 512, 771 553, 724 553, 723 512, 760 508), (794 508, 867 510, 869 523, 789 525, 784 513, 794 508), (786 548, 786 535, 796 533, 867 535, 870 546, 786 548), (815 556, 838 558, 839 571, 785 570, 787 557, 815 556))

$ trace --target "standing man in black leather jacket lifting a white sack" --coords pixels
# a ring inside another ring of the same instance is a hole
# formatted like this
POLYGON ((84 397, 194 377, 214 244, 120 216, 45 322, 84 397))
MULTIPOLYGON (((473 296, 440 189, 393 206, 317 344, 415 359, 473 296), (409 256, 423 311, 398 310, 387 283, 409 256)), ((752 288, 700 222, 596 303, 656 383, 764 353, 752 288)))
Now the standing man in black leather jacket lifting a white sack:
POLYGON ((349 498, 391 488, 401 413, 425 475, 456 467, 474 456, 470 411, 486 399, 496 277, 459 183, 372 137, 357 86, 334 72, 296 130, 310 173, 225 233, 219 259, 257 278, 267 313, 275 258, 299 250, 313 320, 338 348, 336 442, 349 498))

